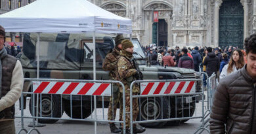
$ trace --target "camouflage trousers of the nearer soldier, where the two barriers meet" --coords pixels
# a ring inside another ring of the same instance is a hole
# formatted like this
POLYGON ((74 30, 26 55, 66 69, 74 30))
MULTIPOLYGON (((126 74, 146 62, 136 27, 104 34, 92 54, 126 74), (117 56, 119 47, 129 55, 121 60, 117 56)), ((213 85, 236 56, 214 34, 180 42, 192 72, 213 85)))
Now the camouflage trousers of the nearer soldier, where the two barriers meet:
MULTIPOLYGON (((121 95, 121 93, 120 93, 121 95)), ((133 95, 138 95, 138 93, 133 93, 133 95)), ((123 96, 120 96, 120 109, 123 109, 123 96)), ((125 128, 129 129, 130 128, 130 114, 127 114, 130 112, 130 93, 125 93, 125 128)), ((121 112, 122 110, 120 110, 121 112)), ((123 112, 122 114, 123 115, 123 112)), ((133 98, 133 121, 136 121, 137 116, 139 115, 139 103, 138 103, 138 98, 133 98)), ((123 121, 123 116, 121 116, 121 120, 123 121)), ((123 124, 121 124, 122 128, 123 128, 123 124)), ((133 124, 133 126, 135 127, 136 124, 133 124)))

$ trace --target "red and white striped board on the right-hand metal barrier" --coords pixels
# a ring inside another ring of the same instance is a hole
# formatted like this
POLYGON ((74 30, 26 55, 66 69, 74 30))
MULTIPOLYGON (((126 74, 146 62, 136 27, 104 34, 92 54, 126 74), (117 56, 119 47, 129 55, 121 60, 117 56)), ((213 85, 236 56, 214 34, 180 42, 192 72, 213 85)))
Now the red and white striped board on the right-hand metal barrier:
POLYGON ((196 93, 196 82, 143 82, 140 95, 165 95, 174 93, 196 93))

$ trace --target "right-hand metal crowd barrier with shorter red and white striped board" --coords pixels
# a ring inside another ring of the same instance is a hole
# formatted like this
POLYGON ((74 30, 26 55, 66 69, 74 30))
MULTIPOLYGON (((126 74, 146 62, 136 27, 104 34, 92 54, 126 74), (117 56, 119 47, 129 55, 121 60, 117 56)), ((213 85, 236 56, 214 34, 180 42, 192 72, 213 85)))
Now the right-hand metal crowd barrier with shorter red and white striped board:
MULTIPOLYGON (((133 109, 130 107, 131 132, 133 132, 133 124, 137 123, 175 120, 186 122, 194 118, 205 118, 202 79, 137 80, 131 83, 130 89, 130 100, 139 99, 139 115, 144 115, 137 117, 137 121, 133 121, 133 109), (198 81, 202 82, 202 92, 196 92, 198 81), (133 95, 132 89, 135 85, 140 86, 140 95, 133 95), (197 113, 199 101, 202 101, 200 106, 202 113, 197 113)), ((130 105, 133 106, 133 101, 130 101, 130 105)), ((209 129, 204 126, 204 120, 197 131, 201 129, 209 132, 209 129)))

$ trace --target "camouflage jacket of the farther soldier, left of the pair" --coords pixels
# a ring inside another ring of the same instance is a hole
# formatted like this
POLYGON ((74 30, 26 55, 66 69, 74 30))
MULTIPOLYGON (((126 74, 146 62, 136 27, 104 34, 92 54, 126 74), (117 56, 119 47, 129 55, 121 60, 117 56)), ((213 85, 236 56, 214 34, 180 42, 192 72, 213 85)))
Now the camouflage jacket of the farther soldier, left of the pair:
POLYGON ((110 80, 117 80, 116 78, 117 56, 119 56, 119 50, 114 48, 112 52, 109 52, 106 55, 106 58, 104 59, 102 64, 102 69, 104 71, 110 71, 109 73, 110 80))

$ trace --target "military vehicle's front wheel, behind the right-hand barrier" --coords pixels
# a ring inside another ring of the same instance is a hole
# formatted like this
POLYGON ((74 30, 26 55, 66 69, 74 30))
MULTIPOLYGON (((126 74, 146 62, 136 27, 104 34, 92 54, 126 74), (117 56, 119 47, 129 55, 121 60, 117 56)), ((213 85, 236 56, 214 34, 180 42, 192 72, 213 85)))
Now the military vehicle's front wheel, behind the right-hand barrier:
MULTIPOLYGON (((140 99, 140 115, 137 120, 157 120, 168 118, 169 101, 165 97, 149 97, 140 99)), ((143 127, 163 127, 166 122, 140 124, 143 127)))

